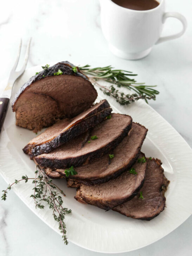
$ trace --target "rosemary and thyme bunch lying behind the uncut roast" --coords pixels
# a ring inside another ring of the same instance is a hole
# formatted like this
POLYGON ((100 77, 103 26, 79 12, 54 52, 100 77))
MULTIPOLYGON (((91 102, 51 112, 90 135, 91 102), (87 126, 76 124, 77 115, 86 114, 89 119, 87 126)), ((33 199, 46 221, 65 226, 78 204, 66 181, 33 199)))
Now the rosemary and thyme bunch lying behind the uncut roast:
POLYGON ((156 95, 159 94, 159 91, 154 89, 156 85, 137 83, 135 79, 129 78, 129 76, 136 76, 130 71, 114 69, 111 66, 90 69, 90 65, 85 65, 78 68, 85 75, 90 76, 90 81, 99 87, 105 95, 114 97, 121 105, 128 105, 139 99, 144 99, 148 103, 147 100, 155 100, 156 95), (108 82, 111 85, 109 87, 102 85, 100 81, 108 82), (121 87, 132 90, 134 93, 125 94, 119 91, 118 88, 121 87))

